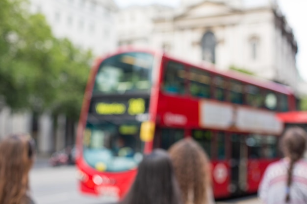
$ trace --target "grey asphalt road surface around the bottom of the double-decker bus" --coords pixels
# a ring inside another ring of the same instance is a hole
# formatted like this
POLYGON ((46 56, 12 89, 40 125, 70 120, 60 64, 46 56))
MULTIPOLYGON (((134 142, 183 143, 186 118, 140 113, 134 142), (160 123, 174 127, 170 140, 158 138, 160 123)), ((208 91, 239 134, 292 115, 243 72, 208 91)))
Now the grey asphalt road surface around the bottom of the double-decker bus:
MULTIPOLYGON (((110 200, 82 195, 77 189, 75 166, 50 167, 38 161, 30 172, 30 187, 36 204, 103 204, 110 200)), ((217 204, 258 204, 255 196, 220 201, 217 204)))

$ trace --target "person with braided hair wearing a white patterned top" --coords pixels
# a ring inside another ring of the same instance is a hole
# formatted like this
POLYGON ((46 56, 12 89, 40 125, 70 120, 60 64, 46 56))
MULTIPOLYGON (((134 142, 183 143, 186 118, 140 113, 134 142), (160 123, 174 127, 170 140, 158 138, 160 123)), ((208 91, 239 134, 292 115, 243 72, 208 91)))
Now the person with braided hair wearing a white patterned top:
POLYGON ((258 196, 265 204, 307 204, 306 132, 299 127, 281 138, 284 158, 270 164, 260 182, 258 196))

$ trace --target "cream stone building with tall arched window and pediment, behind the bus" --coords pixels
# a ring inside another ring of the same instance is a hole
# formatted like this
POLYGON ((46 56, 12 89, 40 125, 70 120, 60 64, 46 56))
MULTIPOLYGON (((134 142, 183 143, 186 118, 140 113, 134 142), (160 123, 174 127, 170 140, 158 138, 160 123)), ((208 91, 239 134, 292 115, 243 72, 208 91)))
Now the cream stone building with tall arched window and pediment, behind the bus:
MULTIPOLYGON (((275 1, 261 1, 252 5, 245 2, 250 10, 243 10, 243 13, 212 17, 204 13, 199 16, 199 9, 192 13, 198 15, 191 18, 191 12, 187 17, 175 19, 168 27, 168 23, 158 21, 155 24, 153 33, 154 47, 162 47, 158 42, 168 41, 167 36, 173 36, 169 42, 172 44, 170 53, 180 59, 188 59, 191 62, 201 61, 201 39, 206 31, 211 30, 216 37, 216 67, 228 69, 230 66, 244 68, 256 75, 291 85, 296 89, 297 70, 295 65, 295 51, 292 49, 286 37, 277 38, 276 32, 281 35, 281 28, 275 27, 275 1), (189 39, 188 32, 191 32, 193 40, 189 39), (164 33, 163 35, 161 33, 164 33), (168 34, 167 34, 168 33, 168 34), (172 34, 173 33, 173 34, 172 34), (256 59, 252 55, 252 41, 257 40, 256 59)), ((200 5, 201 6, 201 5, 200 5)), ((216 9, 221 10, 220 8, 216 9)))

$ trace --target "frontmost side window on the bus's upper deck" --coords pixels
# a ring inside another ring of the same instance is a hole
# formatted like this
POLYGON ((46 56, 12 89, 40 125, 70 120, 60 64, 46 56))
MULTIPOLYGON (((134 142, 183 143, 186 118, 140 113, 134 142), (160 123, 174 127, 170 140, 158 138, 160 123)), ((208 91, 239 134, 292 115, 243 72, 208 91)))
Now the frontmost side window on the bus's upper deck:
POLYGON ((169 62, 164 71, 163 90, 168 93, 184 94, 185 70, 180 63, 169 62))

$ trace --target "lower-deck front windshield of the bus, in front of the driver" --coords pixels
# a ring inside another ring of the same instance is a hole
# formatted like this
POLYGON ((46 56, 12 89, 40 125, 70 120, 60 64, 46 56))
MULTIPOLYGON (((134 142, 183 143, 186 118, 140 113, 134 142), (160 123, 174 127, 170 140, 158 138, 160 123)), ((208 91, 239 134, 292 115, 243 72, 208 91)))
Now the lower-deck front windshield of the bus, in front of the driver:
POLYGON ((87 124, 83 156, 99 171, 121 172, 134 169, 143 159, 140 124, 87 124))

